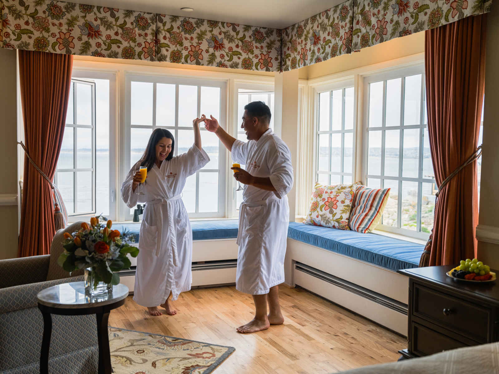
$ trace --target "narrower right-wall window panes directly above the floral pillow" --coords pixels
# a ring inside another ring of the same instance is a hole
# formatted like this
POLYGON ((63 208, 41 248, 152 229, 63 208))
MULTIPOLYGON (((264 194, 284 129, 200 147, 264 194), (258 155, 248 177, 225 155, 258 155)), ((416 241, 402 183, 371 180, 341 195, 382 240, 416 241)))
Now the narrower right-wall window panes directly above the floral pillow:
POLYGON ((317 94, 316 177, 323 185, 352 183, 353 87, 317 94))

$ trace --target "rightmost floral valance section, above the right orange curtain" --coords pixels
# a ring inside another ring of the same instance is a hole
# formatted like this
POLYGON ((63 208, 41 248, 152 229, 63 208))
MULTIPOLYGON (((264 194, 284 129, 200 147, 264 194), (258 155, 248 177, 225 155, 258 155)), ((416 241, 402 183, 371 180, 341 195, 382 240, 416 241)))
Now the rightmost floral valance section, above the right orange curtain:
POLYGON ((355 0, 352 50, 490 11, 492 0, 355 0))

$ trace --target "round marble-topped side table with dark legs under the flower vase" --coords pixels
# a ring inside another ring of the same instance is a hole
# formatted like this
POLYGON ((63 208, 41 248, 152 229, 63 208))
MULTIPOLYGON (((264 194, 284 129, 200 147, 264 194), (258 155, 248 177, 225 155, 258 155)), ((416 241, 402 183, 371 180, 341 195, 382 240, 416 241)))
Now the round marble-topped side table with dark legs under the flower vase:
POLYGON ((84 282, 62 283, 46 288, 38 293, 38 309, 43 315, 43 339, 40 352, 40 374, 48 374, 48 355, 52 335, 52 314, 82 316, 95 314, 97 319, 97 339, 99 342, 99 374, 110 374, 111 356, 107 321, 109 312, 125 304, 128 287, 123 284, 113 286, 113 292, 90 298, 85 295, 84 282))

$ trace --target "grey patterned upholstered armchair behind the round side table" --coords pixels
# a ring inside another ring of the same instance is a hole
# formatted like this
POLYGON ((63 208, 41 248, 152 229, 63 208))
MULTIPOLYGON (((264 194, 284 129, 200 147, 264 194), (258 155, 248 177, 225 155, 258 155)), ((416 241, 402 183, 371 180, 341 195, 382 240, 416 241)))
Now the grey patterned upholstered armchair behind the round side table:
MULTIPOLYGON (((36 294, 60 283, 83 280, 83 271, 69 274, 57 265, 64 232, 74 232, 76 222, 57 231, 50 255, 0 260, 0 373, 39 373, 43 319, 36 294)), ((49 373, 97 372, 95 316, 52 315, 49 373)))

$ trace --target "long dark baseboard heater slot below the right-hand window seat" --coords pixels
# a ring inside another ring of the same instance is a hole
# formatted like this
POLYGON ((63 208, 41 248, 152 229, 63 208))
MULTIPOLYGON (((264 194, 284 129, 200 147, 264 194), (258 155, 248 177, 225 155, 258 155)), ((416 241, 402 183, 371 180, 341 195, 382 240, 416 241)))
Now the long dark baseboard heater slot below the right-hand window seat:
MULTIPOLYGON (((321 279, 327 283, 330 283, 336 287, 342 288, 348 292, 351 292, 355 295, 361 296, 363 298, 369 299, 377 304, 381 304, 386 308, 393 309, 399 313, 408 315, 408 306, 407 304, 401 303, 397 300, 389 298, 385 295, 379 294, 377 292, 371 291, 367 288, 356 285, 355 283, 346 281, 344 279, 335 277, 334 275, 325 273, 321 270, 315 269, 311 266, 302 264, 300 262, 295 263, 295 270, 308 274, 312 277, 321 279)), ((296 284, 298 286, 302 286, 300 284, 296 284)), ((313 292, 313 290, 310 290, 313 292)))

